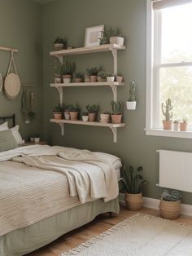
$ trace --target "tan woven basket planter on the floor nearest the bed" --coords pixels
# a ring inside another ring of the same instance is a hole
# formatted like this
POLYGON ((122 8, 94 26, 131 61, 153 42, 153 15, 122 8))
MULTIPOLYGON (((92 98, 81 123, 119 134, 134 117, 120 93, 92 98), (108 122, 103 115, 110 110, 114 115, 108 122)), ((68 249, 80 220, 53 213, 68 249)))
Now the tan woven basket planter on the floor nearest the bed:
POLYGON ((124 201, 128 210, 140 210, 142 209, 142 193, 139 194, 124 194, 124 201))

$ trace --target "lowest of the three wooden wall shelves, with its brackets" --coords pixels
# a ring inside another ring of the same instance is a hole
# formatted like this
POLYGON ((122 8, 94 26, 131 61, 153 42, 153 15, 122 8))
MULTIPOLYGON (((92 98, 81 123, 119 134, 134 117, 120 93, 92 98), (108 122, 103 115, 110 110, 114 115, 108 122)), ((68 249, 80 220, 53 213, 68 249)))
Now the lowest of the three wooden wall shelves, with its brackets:
POLYGON ((101 123, 99 121, 72 121, 72 120, 65 120, 65 119, 50 119, 50 122, 54 122, 56 124, 59 124, 61 127, 61 134, 64 135, 64 124, 70 124, 70 125, 82 125, 82 126, 102 126, 102 127, 108 127, 111 129, 113 133, 113 142, 117 142, 117 128, 124 127, 125 124, 111 124, 111 123, 101 123))

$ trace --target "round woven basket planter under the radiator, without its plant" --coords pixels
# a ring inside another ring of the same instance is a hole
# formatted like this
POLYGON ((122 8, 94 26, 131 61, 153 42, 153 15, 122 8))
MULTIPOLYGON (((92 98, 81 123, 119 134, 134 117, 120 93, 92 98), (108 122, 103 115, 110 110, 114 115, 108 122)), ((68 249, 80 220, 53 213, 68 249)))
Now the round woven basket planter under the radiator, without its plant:
POLYGON ((165 201, 161 199, 159 210, 162 218, 178 218, 181 214, 181 201, 165 201))

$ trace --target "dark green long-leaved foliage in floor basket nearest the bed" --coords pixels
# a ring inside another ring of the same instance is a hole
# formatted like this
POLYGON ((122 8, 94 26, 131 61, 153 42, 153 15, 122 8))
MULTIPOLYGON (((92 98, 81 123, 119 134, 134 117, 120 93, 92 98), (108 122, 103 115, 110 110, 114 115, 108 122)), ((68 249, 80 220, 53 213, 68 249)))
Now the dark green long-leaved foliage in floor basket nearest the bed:
POLYGON ((120 179, 120 192, 141 193, 142 186, 147 183, 142 177, 142 171, 142 166, 137 167, 137 169, 134 169, 133 166, 124 167, 123 177, 120 179))

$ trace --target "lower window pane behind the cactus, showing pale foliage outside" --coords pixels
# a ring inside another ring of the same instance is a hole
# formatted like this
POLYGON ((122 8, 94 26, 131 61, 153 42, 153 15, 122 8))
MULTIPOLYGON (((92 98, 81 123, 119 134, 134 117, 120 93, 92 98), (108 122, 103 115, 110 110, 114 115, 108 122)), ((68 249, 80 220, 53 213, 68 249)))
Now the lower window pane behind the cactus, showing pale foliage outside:
MULTIPOLYGON (((159 71, 159 104, 172 99, 172 120, 188 118, 192 126, 192 67, 160 68, 159 71)), ((160 120, 164 119, 161 105, 160 120)))

